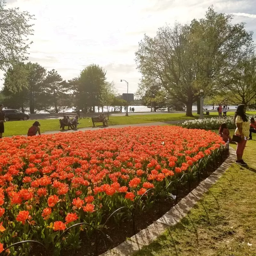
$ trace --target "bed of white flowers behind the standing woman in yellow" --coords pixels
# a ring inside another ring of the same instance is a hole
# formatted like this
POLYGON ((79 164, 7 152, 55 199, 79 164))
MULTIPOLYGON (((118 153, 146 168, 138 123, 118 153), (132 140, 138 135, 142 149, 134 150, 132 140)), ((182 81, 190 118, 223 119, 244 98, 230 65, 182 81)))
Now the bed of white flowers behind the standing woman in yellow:
MULTIPOLYGON (((249 116, 249 120, 252 116, 249 116)), ((254 117, 254 116, 253 116, 254 117)), ((254 117, 255 118, 255 117, 254 117)), ((234 116, 227 116, 226 118, 219 119, 218 117, 188 120, 181 124, 183 128, 188 129, 205 129, 205 130, 218 130, 222 123, 226 123, 228 129, 234 128, 234 116)))

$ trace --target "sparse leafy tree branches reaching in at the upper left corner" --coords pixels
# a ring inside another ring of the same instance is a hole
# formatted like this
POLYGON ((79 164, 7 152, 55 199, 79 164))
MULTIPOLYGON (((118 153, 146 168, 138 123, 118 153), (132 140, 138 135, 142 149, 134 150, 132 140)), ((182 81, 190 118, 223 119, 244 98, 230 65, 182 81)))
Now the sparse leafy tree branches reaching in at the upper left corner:
POLYGON ((33 35, 33 16, 19 8, 6 8, 0 0, 0 69, 6 70, 17 62, 26 60, 29 36, 33 35))

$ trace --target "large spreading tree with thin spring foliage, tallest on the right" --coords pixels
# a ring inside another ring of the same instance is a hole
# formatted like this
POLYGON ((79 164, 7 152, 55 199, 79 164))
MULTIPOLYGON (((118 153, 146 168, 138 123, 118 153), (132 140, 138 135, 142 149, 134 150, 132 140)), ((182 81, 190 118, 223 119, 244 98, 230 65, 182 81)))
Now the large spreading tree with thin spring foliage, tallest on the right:
MULTIPOLYGON (((245 51, 252 50, 252 33, 244 24, 232 24, 232 16, 209 7, 204 19, 190 26, 175 24, 160 28, 154 38, 144 36, 136 52, 142 79, 161 86, 170 98, 186 105, 228 84, 227 77, 245 51)), ((150 85, 150 83, 149 83, 150 85)))

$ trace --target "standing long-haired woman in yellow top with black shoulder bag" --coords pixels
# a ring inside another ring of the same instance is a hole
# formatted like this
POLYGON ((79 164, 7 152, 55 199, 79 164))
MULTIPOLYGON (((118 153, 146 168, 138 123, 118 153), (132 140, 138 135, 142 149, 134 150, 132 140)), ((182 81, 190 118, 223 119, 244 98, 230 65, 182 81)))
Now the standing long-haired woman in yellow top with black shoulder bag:
POLYGON ((235 123, 237 136, 241 137, 241 141, 237 143, 236 147, 236 164, 247 165, 243 160, 244 148, 250 135, 250 123, 248 117, 245 115, 246 108, 245 105, 241 104, 237 107, 235 113, 235 123))

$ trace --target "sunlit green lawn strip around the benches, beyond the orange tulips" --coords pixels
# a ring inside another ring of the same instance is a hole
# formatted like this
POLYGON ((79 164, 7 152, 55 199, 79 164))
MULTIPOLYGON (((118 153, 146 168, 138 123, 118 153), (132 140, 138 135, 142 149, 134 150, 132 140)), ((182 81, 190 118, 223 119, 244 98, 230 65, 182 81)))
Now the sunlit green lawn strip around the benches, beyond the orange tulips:
MULTIPOLYGON (((210 113, 210 116, 204 116, 205 118, 216 117, 217 111, 210 113)), ((256 114, 254 112, 248 112, 248 114, 256 114)), ((228 115, 234 115, 234 112, 228 112, 228 115)), ((198 118, 199 115, 194 114, 194 117, 185 116, 183 113, 166 113, 166 114, 153 114, 153 115, 134 115, 134 116, 109 116, 109 125, 115 124, 142 124, 153 122, 170 122, 181 121, 198 118)), ((38 120, 41 124, 41 132, 57 131, 60 129, 60 123, 58 119, 42 119, 38 120)), ((4 136, 22 135, 27 134, 28 128, 35 122, 35 120, 27 121, 10 121, 4 124, 4 136)), ((92 127, 91 118, 83 118, 79 121, 79 128, 92 127)), ((101 125, 97 123, 97 125, 101 125)))

